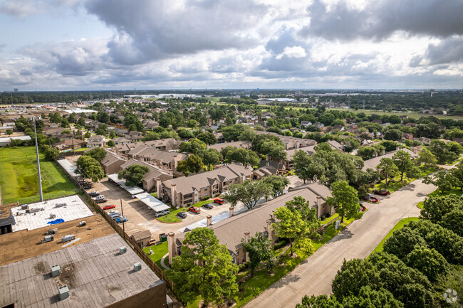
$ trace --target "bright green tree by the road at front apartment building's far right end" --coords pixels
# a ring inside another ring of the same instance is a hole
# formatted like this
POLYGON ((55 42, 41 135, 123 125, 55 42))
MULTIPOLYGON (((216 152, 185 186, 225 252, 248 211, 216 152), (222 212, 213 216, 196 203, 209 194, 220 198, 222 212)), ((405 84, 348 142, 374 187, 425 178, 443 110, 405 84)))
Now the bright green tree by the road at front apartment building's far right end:
POLYGON ((359 213, 360 205, 358 204, 358 194, 355 188, 349 186, 347 181, 334 182, 331 185, 331 197, 326 198, 326 203, 334 206, 336 213, 339 214, 340 222, 344 222, 344 217, 350 219, 359 219, 362 213, 359 213))

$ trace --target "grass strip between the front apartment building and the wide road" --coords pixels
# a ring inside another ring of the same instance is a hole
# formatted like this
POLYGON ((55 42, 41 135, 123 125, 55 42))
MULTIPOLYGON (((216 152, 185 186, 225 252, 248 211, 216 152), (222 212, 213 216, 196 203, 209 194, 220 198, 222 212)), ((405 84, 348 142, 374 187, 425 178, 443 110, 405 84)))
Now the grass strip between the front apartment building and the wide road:
MULTIPOLYGON (((344 219, 344 223, 342 224, 343 228, 345 228, 345 226, 351 222, 352 220, 344 219)), ((328 240, 331 240, 331 238, 338 234, 340 230, 342 230, 343 228, 334 230, 334 224, 330 225, 326 229, 326 233, 323 236, 322 240, 313 240, 313 253, 318 248, 321 248, 323 244, 328 242, 328 240)), ((306 260, 306 258, 311 255, 311 253, 304 253, 303 251, 298 250, 294 245, 293 253, 296 253, 297 257, 290 257, 289 252, 289 250, 286 250, 285 255, 281 259, 280 265, 274 268, 274 275, 270 275, 264 267, 261 267, 260 270, 254 272, 253 278, 247 277, 246 281, 239 285, 240 292, 238 293, 236 299, 236 307, 243 306, 244 304, 246 304, 246 302, 249 302, 251 299, 259 295, 261 292, 264 292, 266 288, 270 287, 274 282, 279 280, 288 272, 291 272, 291 270, 293 270, 294 267, 296 267, 303 260, 306 260)), ((236 275, 236 279, 241 280, 246 275, 249 275, 249 272, 250 270, 246 270, 246 272, 239 272, 239 274, 236 275)))

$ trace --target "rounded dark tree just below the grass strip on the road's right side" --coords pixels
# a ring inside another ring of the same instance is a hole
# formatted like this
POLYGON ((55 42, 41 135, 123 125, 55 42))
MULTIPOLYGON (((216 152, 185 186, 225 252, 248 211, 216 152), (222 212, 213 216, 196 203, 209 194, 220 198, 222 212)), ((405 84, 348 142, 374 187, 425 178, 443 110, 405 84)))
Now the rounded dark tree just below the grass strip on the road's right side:
POLYGON ((415 245, 427 246, 425 240, 416 230, 402 228, 394 231, 393 236, 387 238, 383 249, 386 253, 397 255, 402 260, 412 252, 415 245))

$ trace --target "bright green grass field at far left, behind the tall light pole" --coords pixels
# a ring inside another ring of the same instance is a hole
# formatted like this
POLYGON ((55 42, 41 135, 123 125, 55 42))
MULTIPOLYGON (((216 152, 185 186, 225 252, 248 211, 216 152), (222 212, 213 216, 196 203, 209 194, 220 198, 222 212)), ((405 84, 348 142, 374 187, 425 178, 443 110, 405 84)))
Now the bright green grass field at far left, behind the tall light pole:
MULTIPOLYGON (((56 198, 76 193, 77 188, 53 161, 41 159, 43 198, 56 198)), ((20 204, 40 201, 35 147, 0 149, 0 186, 3 203, 20 204)))

